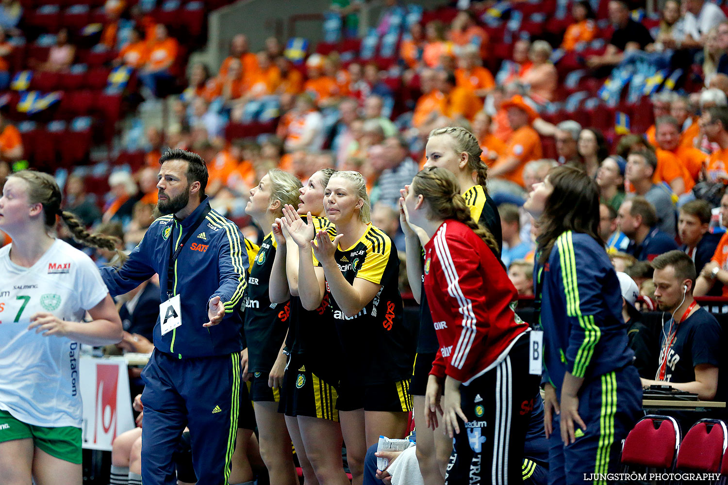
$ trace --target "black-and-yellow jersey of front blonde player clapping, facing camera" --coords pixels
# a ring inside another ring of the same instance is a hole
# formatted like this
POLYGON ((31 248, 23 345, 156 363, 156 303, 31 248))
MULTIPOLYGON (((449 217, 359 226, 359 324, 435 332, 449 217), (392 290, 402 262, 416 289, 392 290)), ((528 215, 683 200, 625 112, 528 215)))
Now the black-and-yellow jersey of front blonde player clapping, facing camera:
MULTIPOLYGON (((347 317, 330 297, 333 320, 347 363, 347 378, 364 385, 409 379, 416 350, 414 326, 403 318, 398 287, 400 260, 389 236, 369 224, 363 236, 334 255, 344 278, 381 285, 355 316, 347 317)), ((326 284, 328 291, 328 282, 326 284)))

